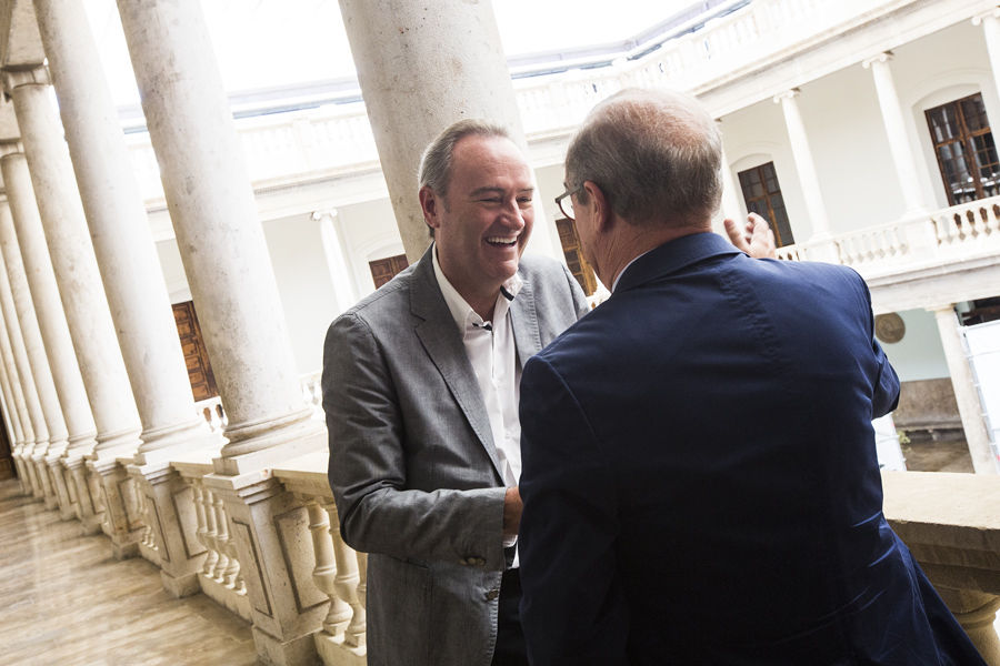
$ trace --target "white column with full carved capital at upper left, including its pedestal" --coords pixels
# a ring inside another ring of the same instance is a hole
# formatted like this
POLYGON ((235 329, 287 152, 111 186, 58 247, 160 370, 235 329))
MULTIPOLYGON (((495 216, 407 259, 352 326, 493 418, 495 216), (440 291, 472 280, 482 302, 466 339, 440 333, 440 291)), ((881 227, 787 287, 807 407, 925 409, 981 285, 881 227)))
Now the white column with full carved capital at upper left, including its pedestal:
POLYGON ((121 496, 128 474, 118 458, 131 457, 139 448, 139 414, 72 165, 49 99, 48 71, 41 65, 8 68, 4 85, 13 99, 62 309, 97 423, 97 446, 88 456, 88 467, 101 477, 104 488, 104 524, 112 552, 118 558, 131 557, 138 553, 139 525, 121 496))

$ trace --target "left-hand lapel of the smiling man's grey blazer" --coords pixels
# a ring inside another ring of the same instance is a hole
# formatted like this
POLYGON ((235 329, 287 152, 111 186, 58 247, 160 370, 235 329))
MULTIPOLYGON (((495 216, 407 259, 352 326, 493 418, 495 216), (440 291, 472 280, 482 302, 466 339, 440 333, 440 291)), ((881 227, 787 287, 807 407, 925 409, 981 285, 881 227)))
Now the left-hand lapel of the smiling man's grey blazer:
POLYGON ((479 437, 482 447, 493 463, 493 468, 500 478, 503 473, 500 467, 500 458, 493 444, 493 433, 490 428, 490 420, 487 416, 486 403, 472 365, 466 354, 466 347, 459 336, 451 311, 444 303, 438 280, 434 276, 434 268, 430 253, 433 244, 420 259, 414 269, 413 284, 410 287, 410 310, 420 320, 414 326, 414 332, 423 345, 427 355, 441 373, 441 377, 448 385, 451 395, 458 403, 476 436, 479 437))

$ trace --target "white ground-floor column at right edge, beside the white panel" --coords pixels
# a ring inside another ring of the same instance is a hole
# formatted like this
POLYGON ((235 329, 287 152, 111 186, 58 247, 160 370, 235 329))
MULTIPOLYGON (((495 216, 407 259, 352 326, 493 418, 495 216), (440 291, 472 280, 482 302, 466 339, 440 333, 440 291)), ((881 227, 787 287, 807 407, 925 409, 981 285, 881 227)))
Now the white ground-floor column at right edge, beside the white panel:
POLYGON ((948 304, 928 310, 934 313, 938 321, 948 373, 951 375, 954 398, 958 402, 959 415, 962 417, 962 428, 966 431, 966 442, 972 456, 972 468, 977 474, 997 474, 997 466, 990 452, 989 431, 982 417, 982 403, 972 380, 972 369, 969 367, 969 360, 966 356, 954 306, 948 304))

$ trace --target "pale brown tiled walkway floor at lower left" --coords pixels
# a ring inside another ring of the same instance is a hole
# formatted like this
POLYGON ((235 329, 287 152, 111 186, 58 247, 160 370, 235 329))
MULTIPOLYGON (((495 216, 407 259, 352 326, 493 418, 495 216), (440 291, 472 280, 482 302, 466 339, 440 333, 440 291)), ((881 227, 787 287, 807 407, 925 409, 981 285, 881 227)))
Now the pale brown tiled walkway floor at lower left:
POLYGON ((250 626, 204 595, 174 599, 158 569, 0 482, 0 664, 250 666, 250 626))

